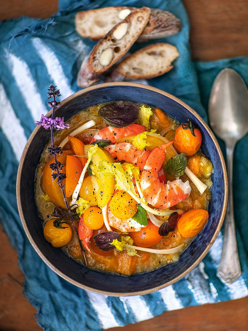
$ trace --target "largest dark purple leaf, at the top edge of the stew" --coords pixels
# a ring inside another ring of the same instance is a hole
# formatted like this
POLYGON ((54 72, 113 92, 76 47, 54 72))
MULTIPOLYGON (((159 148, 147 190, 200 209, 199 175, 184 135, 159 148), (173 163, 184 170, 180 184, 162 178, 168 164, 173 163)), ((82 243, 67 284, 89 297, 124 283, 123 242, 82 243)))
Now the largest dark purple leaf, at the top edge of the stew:
POLYGON ((109 103, 101 107, 98 116, 110 126, 124 127, 133 124, 139 116, 139 106, 136 104, 109 103))

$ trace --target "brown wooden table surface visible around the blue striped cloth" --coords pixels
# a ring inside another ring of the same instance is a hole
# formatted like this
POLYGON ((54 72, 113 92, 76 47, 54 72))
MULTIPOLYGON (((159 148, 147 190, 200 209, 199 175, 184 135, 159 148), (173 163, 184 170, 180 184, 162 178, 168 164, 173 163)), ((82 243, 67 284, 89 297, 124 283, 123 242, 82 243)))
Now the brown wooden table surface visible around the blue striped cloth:
MULTIPOLYGON (((248 0, 183 0, 183 2, 191 24, 190 46, 193 59, 211 61, 248 56, 248 0)), ((22 15, 48 18, 57 11, 57 0, 0 1, 0 21, 22 15)), ((17 262, 16 252, 0 230, 0 330, 38 331, 41 328, 34 318, 36 310, 22 294, 24 276, 17 262)), ((151 320, 128 325, 121 330, 246 331, 248 297, 164 312, 151 320)))

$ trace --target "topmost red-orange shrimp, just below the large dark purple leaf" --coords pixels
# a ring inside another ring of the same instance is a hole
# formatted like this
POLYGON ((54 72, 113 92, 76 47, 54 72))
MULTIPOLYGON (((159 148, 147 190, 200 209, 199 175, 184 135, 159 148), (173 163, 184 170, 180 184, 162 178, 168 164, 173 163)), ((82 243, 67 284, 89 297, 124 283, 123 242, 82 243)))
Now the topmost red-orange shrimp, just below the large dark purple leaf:
POLYGON ((111 140, 112 144, 115 144, 117 139, 137 135, 145 131, 145 126, 140 124, 131 124, 125 127, 112 127, 106 126, 98 131, 90 143, 95 140, 111 140))

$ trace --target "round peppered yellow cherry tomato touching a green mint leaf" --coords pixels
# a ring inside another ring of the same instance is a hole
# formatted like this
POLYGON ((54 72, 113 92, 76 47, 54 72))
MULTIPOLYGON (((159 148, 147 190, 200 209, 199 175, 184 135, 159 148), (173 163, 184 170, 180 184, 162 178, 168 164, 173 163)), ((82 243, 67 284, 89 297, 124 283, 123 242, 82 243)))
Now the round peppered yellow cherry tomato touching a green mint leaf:
POLYGON ((111 199, 110 211, 115 217, 128 219, 133 217, 137 210, 137 202, 127 192, 117 191, 111 199))

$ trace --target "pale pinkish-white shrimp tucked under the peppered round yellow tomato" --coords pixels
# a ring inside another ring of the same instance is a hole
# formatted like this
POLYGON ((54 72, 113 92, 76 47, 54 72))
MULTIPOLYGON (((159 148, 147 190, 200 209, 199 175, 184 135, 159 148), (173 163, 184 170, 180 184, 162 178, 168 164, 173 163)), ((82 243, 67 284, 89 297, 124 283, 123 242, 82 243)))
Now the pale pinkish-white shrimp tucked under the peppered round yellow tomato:
POLYGON ((136 232, 140 231, 142 227, 145 227, 145 225, 139 224, 133 218, 120 219, 114 216, 110 210, 110 201, 107 204, 107 220, 111 227, 121 232, 136 232))

